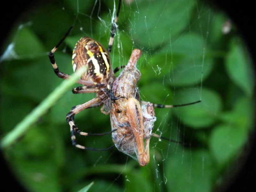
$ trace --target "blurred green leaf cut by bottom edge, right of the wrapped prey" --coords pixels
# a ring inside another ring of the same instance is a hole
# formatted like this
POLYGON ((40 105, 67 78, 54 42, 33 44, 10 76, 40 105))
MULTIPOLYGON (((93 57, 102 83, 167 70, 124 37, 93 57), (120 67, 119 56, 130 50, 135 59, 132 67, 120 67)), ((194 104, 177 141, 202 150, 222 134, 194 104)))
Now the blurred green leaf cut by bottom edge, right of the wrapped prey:
POLYGON ((167 159, 164 169, 168 191, 210 192, 213 171, 207 151, 178 148, 172 158, 167 159))

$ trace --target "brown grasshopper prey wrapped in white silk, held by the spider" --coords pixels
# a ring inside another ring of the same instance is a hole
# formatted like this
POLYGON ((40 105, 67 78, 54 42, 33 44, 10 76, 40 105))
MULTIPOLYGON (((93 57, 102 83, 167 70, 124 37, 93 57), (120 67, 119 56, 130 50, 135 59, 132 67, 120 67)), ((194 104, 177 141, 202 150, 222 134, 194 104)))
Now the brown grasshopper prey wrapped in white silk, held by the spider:
POLYGON ((113 83, 114 95, 122 98, 113 102, 110 120, 112 130, 116 130, 112 132, 116 148, 127 155, 136 153, 140 165, 145 166, 149 162, 149 140, 156 117, 152 103, 140 103, 137 83, 141 74, 136 68, 140 55, 139 49, 132 51, 128 64, 113 83))

